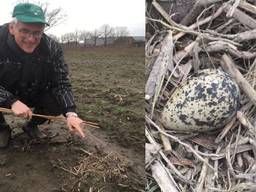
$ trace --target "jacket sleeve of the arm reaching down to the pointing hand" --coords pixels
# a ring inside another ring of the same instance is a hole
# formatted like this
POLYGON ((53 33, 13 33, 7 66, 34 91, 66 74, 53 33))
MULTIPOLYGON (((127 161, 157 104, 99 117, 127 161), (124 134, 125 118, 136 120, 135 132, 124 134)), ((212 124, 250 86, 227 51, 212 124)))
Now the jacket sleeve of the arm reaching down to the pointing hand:
POLYGON ((64 61, 63 51, 60 45, 54 43, 50 49, 53 53, 53 82, 52 93, 58 103, 64 109, 64 113, 75 112, 76 105, 71 84, 68 77, 68 66, 64 61))

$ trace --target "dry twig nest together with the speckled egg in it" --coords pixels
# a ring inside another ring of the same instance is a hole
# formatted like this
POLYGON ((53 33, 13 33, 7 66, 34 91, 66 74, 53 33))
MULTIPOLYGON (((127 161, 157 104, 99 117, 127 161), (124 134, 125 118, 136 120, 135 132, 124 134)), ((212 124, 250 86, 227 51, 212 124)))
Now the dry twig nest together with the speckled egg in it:
POLYGON ((256 3, 181 2, 146 4, 146 191, 256 191, 256 3))

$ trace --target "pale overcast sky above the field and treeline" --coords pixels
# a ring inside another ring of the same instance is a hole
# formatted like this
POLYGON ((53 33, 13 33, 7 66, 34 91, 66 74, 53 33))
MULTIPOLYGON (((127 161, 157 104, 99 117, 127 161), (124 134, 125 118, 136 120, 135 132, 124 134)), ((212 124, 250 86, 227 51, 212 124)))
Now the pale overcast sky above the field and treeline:
MULTIPOLYGON (((11 20, 13 7, 18 0, 0 0, 0 24, 11 20)), ((29 1, 38 2, 38 1, 29 1)), ((125 26, 131 35, 144 36, 144 0, 39 0, 48 3, 49 9, 61 7, 67 20, 48 32, 61 36, 75 30, 91 31, 108 24, 125 26)))

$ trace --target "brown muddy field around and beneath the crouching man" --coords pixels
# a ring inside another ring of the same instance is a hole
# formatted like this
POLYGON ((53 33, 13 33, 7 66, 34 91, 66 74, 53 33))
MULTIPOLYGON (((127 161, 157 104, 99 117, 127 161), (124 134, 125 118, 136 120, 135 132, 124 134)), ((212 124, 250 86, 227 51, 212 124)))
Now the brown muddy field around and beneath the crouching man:
POLYGON ((0 151, 0 192, 144 190, 144 48, 66 49, 79 115, 100 128, 71 136, 64 122, 29 140, 24 120, 6 115, 13 134, 0 151))

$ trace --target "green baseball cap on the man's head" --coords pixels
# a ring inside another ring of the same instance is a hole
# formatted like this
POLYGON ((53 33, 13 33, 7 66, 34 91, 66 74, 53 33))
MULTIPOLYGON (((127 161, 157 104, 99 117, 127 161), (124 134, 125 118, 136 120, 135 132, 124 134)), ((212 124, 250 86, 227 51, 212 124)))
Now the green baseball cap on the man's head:
POLYGON ((23 23, 43 23, 45 21, 44 11, 41 7, 32 3, 20 3, 14 7, 12 17, 23 23))

